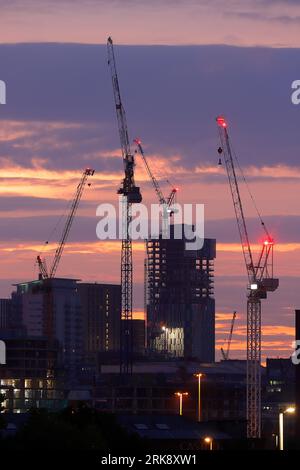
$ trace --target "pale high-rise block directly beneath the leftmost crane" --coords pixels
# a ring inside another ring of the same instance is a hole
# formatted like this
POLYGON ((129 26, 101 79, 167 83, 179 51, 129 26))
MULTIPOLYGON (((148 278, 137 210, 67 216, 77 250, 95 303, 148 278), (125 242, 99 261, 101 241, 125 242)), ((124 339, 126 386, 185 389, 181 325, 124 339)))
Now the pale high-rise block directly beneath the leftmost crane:
POLYGON ((57 340, 70 378, 81 367, 83 321, 74 279, 39 279, 18 284, 12 296, 15 318, 30 337, 57 340))

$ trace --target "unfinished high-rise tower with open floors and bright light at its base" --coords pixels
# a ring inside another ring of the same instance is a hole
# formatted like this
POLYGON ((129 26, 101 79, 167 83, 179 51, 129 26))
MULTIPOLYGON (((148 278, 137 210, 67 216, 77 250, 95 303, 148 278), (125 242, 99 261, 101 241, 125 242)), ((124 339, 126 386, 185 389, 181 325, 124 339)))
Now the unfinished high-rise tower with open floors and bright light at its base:
POLYGON ((175 238, 174 226, 170 229, 170 239, 160 235, 147 241, 148 348, 167 357, 213 362, 216 241, 205 239, 201 250, 187 250, 187 240, 175 238))

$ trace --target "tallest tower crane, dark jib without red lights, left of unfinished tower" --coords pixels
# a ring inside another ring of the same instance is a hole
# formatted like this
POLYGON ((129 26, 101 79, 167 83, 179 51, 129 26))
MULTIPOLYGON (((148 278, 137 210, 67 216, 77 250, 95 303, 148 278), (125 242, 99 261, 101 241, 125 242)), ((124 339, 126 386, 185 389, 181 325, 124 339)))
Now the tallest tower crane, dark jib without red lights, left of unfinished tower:
POLYGON ((118 194, 122 196, 122 252, 121 252, 121 344, 120 373, 132 372, 132 241, 130 225, 132 204, 142 201, 140 188, 134 181, 134 155, 131 152, 125 109, 121 101, 118 74, 112 38, 107 40, 108 66, 111 72, 114 100, 117 113, 118 129, 124 164, 124 179, 118 194))

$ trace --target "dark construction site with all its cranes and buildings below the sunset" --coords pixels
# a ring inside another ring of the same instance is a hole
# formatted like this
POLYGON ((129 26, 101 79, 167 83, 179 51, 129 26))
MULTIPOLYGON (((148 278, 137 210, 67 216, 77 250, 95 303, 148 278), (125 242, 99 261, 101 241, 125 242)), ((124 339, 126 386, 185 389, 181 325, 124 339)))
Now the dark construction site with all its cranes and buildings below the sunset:
MULTIPOLYGON (((156 444, 168 430, 167 448, 180 441, 197 449, 211 445, 216 450, 236 445, 276 449, 283 446, 278 413, 295 403, 296 378, 289 359, 262 361, 264 304, 280 288, 276 244, 233 151, 230 119, 219 115, 211 123, 219 134, 213 158, 228 179, 227 196, 245 266, 245 316, 237 310, 230 313, 220 348, 214 293, 217 240, 204 238, 201 249, 189 250, 189 240, 175 236, 180 188, 168 181, 165 190, 163 175, 155 173, 142 139, 131 129, 129 133, 114 48, 109 37, 108 74, 119 133, 115 146, 121 149, 123 165, 123 179, 115 188, 116 201, 119 198, 122 204, 120 282, 102 283, 101 277, 87 282, 64 277, 60 270, 78 207, 86 192, 93 190, 97 173, 92 166, 78 168, 52 260, 49 251, 41 252, 35 260, 38 277, 17 283, 11 298, 0 300, 0 338, 7 350, 6 364, 0 369, 4 412, 22 414, 32 407, 57 410, 84 402, 116 414, 123 425, 156 444), (159 233, 143 240, 144 265, 139 267, 144 272, 143 318, 134 315, 131 237, 133 209, 142 201, 147 204, 138 183, 137 159, 160 207, 159 233), (259 250, 257 241, 249 237, 241 185, 246 185, 257 211, 259 250), (246 323, 241 324, 243 318, 246 323), (237 322, 246 331, 243 359, 235 358, 231 349, 237 322), (178 419, 183 423, 181 433, 178 419)), ((286 439, 293 442, 294 421, 286 427, 286 439)))

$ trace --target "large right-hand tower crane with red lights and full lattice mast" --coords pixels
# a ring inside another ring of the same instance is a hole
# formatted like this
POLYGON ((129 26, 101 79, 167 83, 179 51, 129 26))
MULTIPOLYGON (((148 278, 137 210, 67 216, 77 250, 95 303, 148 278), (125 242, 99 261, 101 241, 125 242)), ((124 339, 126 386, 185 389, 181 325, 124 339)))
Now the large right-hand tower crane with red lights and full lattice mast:
POLYGON ((216 118, 228 181, 230 185, 236 221, 248 276, 247 288, 247 436, 261 436, 261 299, 278 288, 279 280, 273 277, 274 240, 265 228, 267 237, 263 242, 258 262, 255 264, 249 242, 246 221, 234 166, 233 152, 223 116, 216 118))

